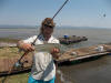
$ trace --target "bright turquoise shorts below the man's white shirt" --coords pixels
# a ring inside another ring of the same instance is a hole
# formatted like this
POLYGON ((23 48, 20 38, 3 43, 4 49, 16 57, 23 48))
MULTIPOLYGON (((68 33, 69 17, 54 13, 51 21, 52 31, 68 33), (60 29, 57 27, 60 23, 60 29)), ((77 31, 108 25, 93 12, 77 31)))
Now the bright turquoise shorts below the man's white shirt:
POLYGON ((56 77, 53 77, 50 81, 43 81, 43 80, 34 80, 31 75, 29 76, 28 83, 54 83, 56 77))

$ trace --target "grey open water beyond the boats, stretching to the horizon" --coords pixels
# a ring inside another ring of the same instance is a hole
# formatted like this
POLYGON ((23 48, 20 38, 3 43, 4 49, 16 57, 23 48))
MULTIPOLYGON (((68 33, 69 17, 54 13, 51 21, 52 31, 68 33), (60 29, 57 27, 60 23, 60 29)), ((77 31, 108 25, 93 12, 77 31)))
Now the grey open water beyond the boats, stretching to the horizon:
MULTIPOLYGON (((38 33, 39 29, 0 29, 0 38, 27 39, 38 33)), ((63 34, 89 38, 87 42, 75 44, 77 46, 105 43, 111 40, 111 30, 108 29, 56 29, 53 33, 57 38, 63 34)))

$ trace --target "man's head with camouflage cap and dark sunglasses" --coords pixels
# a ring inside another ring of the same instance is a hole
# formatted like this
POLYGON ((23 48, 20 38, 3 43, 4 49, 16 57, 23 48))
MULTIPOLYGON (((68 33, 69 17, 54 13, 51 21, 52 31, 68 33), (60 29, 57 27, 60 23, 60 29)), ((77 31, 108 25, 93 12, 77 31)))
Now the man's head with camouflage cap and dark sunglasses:
POLYGON ((50 37, 53 32, 53 28, 56 27, 56 23, 51 18, 46 18, 41 23, 41 33, 44 37, 50 37))

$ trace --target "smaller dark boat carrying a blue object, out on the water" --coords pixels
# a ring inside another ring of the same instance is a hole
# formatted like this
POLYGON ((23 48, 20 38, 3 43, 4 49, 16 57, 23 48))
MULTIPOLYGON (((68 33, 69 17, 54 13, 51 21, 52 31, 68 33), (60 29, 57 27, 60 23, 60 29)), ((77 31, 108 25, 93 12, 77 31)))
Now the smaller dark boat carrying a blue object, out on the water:
POLYGON ((61 44, 72 44, 81 41, 88 41, 87 37, 77 37, 77 35, 63 35, 63 38, 59 38, 61 44))

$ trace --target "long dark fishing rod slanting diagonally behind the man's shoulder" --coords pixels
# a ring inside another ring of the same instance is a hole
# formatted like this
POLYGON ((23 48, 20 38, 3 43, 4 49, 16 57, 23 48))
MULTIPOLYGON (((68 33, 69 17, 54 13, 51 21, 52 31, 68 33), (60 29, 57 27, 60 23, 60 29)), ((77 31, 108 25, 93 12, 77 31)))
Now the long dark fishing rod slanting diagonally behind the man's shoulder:
MULTIPOLYGON (((69 0, 65 0, 64 2, 63 2, 63 4, 60 7, 60 9, 54 13, 54 15, 52 17, 52 20, 57 17, 57 14, 61 11, 61 9, 67 4, 67 2, 68 2, 69 0)), ((31 43, 31 45, 34 45, 34 43, 36 43, 36 41, 37 41, 37 39, 38 39, 38 37, 36 38, 36 40, 31 43)), ((21 63, 21 60, 22 60, 22 58, 24 56, 24 55, 27 55, 29 53, 29 51, 26 51, 22 55, 21 55, 21 58, 18 60, 18 62, 16 62, 14 64, 13 64, 13 66, 10 69, 10 71, 8 72, 8 74, 11 74, 11 72, 12 72, 12 70, 14 69, 14 68, 18 68, 18 66, 22 66, 22 63, 21 63)), ((7 77, 8 77, 8 75, 2 80, 2 83, 4 83, 4 81, 7 80, 7 77)))

